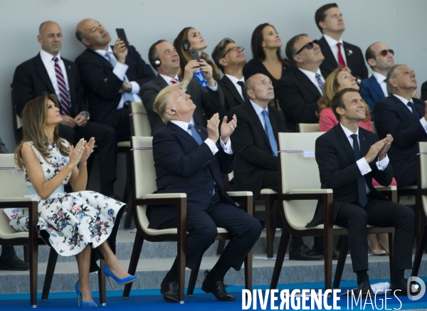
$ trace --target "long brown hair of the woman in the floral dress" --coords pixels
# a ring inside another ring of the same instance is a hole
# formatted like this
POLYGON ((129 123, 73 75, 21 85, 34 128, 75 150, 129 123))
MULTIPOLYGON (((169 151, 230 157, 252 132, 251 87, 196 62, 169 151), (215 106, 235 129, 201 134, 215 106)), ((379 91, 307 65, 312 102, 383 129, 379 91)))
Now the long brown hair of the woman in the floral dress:
MULTIPOLYGON (((59 107, 58 98, 53 94, 43 94, 26 103, 22 110, 23 139, 15 150, 15 163, 23 168, 21 150, 26 142, 33 142, 33 146, 41 153, 46 162, 50 162, 51 154, 48 150, 48 137, 44 131, 48 114, 47 102, 51 100, 55 107, 59 107)), ((68 144, 59 137, 58 125, 53 131, 53 142, 59 149, 60 154, 67 157, 70 154, 68 144)))

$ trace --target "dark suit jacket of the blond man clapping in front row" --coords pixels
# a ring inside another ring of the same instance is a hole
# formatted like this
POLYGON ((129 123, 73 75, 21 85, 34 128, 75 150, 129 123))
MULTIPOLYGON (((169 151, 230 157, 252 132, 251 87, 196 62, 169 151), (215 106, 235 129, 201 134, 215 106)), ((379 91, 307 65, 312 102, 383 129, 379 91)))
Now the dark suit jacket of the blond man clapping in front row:
MULTIPOLYGON (((201 139, 208 137, 206 128, 196 125, 201 139)), ((223 151, 212 154, 205 143, 196 140, 181 127, 169 122, 153 137, 154 167, 157 175, 157 194, 186 193, 187 214, 203 211, 211 204, 214 181, 221 201, 236 206, 223 187, 221 172, 228 174, 236 164, 234 154, 223 151)), ((176 218, 176 205, 149 206, 149 228, 157 228, 164 221, 176 218)))

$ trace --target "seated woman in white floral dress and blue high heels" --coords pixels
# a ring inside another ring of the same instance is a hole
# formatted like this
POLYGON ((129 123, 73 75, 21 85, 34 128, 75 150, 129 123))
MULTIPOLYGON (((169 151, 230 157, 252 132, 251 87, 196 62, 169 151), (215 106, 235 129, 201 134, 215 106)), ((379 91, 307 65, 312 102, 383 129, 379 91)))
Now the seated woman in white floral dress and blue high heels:
MULTIPOLYGON (((96 307, 89 287, 93 255, 105 260, 107 275, 124 284, 137 276, 127 273, 112 249, 125 204, 94 191, 85 191, 87 160, 95 139, 81 139, 73 148, 58 136, 63 120, 55 95, 42 95, 23 109, 23 141, 16 148, 16 164, 23 169, 28 194, 37 196, 38 231, 60 255, 75 255, 79 280, 75 285, 85 307, 96 307), (78 166, 77 166, 78 165, 78 166), (70 182, 73 193, 63 185, 70 182), (110 244, 111 247, 110 247, 110 244), (102 256, 102 257, 100 257, 102 256)), ((11 219, 17 231, 28 231, 28 215, 11 219)))

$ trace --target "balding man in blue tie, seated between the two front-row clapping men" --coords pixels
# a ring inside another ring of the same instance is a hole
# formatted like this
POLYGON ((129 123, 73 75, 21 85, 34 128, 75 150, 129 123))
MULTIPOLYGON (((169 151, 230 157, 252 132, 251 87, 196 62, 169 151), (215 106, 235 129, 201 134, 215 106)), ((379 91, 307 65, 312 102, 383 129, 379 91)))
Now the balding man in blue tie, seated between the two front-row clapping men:
MULTIPOLYGON (((248 100, 230 110, 235 114, 238 127, 231 136, 236 150, 234 190, 252 191, 258 199, 263 188, 278 191, 278 132, 286 132, 283 112, 269 107, 274 100, 270 78, 263 74, 252 75, 245 83, 248 100)), ((312 253, 302 238, 292 236, 289 258, 291 260, 320 260, 322 255, 312 253)))

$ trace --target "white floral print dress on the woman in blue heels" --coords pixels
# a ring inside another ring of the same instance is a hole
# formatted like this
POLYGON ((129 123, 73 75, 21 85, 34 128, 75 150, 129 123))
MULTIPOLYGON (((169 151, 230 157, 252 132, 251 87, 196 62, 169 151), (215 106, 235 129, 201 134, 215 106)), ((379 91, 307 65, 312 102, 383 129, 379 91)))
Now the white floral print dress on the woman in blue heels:
MULTIPOLYGON (((31 145, 40 161, 46 181, 53 178, 68 163, 68 157, 60 154, 55 143, 48 144, 51 150, 52 163, 46 162, 38 150, 31 145)), ((25 166, 23 173, 28 189, 32 184, 28 178, 25 166)), ((67 184, 71 174, 63 181, 67 184)), ((63 189, 60 187, 59 189, 63 189)), ((31 193, 31 191, 29 191, 31 193)), ((48 199, 43 200, 37 194, 38 201, 38 231, 55 251, 63 256, 76 255, 83 251, 85 246, 92 243, 93 248, 100 246, 110 234, 117 233, 116 221, 120 222, 122 209, 125 204, 95 191, 80 191, 67 194, 63 191, 55 191, 48 199), (118 217, 117 217, 118 216, 118 217)), ((119 223, 117 222, 117 227, 119 223)), ((10 221, 16 231, 28 231, 28 211, 10 221)), ((115 237, 113 239, 115 241, 115 237)))

